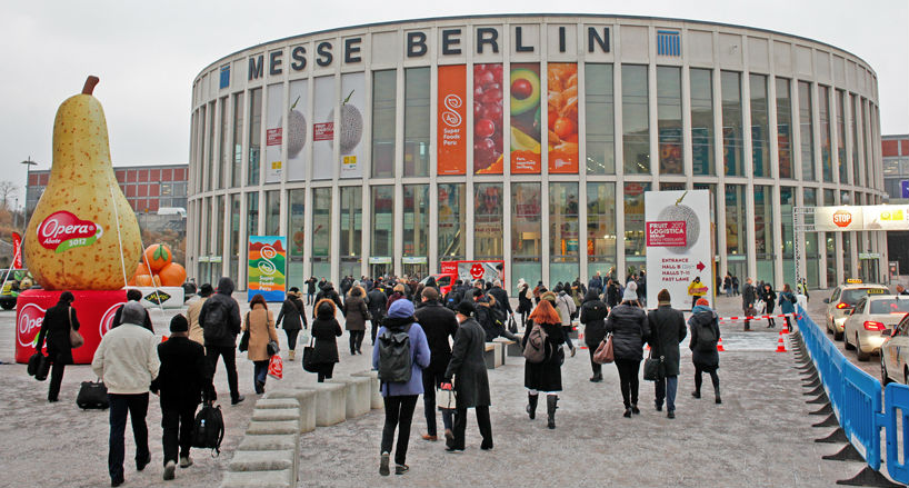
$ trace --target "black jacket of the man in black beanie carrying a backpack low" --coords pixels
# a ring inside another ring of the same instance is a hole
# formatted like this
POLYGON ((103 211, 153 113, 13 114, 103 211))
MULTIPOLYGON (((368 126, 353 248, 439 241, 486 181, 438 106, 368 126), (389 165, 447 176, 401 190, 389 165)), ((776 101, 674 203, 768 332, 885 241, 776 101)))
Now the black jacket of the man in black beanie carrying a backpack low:
POLYGON ((203 391, 214 400, 202 345, 188 337, 171 337, 158 345, 158 358, 161 369, 150 389, 160 392, 162 410, 194 410, 203 391))

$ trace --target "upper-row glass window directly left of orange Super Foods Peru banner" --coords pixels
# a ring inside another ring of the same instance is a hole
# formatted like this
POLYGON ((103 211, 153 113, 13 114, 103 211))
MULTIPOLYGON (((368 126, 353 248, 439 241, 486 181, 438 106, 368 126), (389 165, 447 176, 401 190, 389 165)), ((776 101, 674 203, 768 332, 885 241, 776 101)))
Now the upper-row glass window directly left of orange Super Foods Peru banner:
POLYGON ((429 175, 429 67, 404 70, 404 176, 429 175))

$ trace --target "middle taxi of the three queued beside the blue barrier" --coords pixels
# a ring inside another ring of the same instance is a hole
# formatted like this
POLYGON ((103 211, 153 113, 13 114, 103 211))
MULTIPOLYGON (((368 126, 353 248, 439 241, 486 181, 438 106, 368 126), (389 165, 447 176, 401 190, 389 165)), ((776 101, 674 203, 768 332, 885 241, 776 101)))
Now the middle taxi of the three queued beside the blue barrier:
POLYGON ((909 313, 909 297, 869 295, 859 299, 852 315, 842 325, 846 349, 855 349, 859 361, 867 361, 880 351, 887 337, 881 331, 891 328, 909 313))

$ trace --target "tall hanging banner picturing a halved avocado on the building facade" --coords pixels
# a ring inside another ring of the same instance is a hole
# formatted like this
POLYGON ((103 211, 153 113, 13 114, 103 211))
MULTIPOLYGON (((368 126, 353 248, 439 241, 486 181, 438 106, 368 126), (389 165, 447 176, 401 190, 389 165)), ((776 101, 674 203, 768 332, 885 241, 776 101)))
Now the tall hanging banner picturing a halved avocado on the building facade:
POLYGON ((540 173, 540 64, 512 63, 511 172, 540 173))

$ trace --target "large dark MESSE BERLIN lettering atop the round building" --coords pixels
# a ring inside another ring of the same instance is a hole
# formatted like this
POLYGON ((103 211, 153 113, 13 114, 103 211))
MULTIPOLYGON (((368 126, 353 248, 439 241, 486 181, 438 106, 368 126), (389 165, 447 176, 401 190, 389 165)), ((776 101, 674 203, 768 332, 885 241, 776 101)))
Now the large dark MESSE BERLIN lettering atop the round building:
MULTIPOLYGON (((587 27, 587 52, 609 52, 609 28, 608 27, 587 27)), ((463 40, 463 29, 451 28, 439 30, 439 44, 442 50, 442 56, 460 56, 462 54, 461 41, 463 40)), ((477 27, 476 28, 477 53, 482 54, 489 49, 492 53, 499 52, 499 29, 495 27, 477 27)), ((404 43, 404 56, 410 59, 422 58, 429 52, 428 36, 423 31, 407 32, 407 42, 404 43)), ((342 51, 343 62, 352 64, 362 62, 362 37, 351 37, 343 39, 342 51)), ((527 46, 523 42, 523 31, 521 26, 515 26, 515 37, 512 38, 516 52, 536 52, 536 46, 527 46)), ((559 27, 559 52, 567 51, 566 28, 559 27)), ((282 49, 271 51, 268 53, 268 73, 269 76, 280 76, 283 73, 284 51, 282 49)), ((290 50, 290 69, 292 71, 302 71, 307 67, 307 49, 304 46, 296 46, 290 50)), ((332 41, 320 41, 316 44, 316 64, 326 68, 334 62, 334 44, 332 41)), ((249 58, 249 80, 256 80, 262 77, 264 71, 264 56, 258 54, 249 58)))

